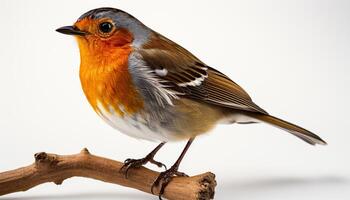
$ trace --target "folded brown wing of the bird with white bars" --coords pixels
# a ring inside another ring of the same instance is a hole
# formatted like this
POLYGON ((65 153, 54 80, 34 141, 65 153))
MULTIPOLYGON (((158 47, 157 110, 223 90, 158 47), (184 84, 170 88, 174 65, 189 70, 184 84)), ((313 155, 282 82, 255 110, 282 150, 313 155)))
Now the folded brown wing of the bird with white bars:
POLYGON ((186 49, 159 34, 151 41, 138 53, 169 89, 210 104, 267 114, 238 84, 186 49))

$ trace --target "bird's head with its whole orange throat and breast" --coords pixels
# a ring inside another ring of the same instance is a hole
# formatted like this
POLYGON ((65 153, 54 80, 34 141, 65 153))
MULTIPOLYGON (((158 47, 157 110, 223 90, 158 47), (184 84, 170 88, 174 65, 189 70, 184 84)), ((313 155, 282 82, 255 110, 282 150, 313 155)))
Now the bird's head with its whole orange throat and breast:
POLYGON ((57 29, 73 35, 80 50, 80 80, 92 107, 111 106, 118 114, 135 113, 143 102, 128 71, 129 55, 148 41, 151 30, 115 8, 91 10, 72 25, 57 29), (119 108, 123 106, 123 111, 119 108))

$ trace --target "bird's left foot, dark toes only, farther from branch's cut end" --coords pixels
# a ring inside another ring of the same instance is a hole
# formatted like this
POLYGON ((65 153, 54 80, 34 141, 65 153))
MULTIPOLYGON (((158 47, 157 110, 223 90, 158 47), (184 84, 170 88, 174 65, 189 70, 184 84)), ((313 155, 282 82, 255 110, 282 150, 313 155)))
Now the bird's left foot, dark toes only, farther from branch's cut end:
POLYGON ((126 159, 124 161, 124 165, 122 166, 122 168, 120 168, 120 172, 124 174, 125 178, 128 178, 128 172, 130 169, 140 168, 143 165, 147 164, 148 162, 154 165, 157 165, 158 167, 164 167, 165 170, 167 169, 165 164, 155 161, 152 157, 146 156, 145 158, 141 158, 141 159, 131 159, 131 158, 126 159))

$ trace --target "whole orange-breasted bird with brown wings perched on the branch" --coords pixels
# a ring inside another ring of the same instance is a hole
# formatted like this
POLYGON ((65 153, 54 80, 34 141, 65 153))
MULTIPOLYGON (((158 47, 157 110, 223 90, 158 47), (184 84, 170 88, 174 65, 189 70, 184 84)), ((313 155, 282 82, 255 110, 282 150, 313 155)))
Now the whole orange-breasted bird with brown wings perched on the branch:
POLYGON ((159 142, 141 159, 126 159, 121 172, 154 160, 167 142, 187 140, 176 162, 161 172, 151 191, 159 198, 179 172, 196 136, 218 124, 264 122, 311 144, 325 145, 316 134, 270 115, 227 75, 206 65, 184 47, 117 8, 102 7, 56 31, 73 35, 80 52, 80 81, 93 110, 131 137, 159 142))

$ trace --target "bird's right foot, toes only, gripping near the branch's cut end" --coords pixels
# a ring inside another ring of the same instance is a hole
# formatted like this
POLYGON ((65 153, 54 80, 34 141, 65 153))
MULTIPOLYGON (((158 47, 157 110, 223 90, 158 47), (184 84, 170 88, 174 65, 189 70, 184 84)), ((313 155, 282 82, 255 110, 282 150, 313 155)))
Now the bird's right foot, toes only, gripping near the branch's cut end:
POLYGON ((170 169, 165 170, 164 172, 161 172, 151 187, 152 194, 154 194, 154 187, 160 186, 160 191, 159 191, 158 197, 160 200, 162 200, 162 195, 164 194, 164 190, 165 190, 166 186, 170 183, 170 181, 173 179, 174 176, 186 176, 186 177, 188 177, 187 174, 185 174, 183 172, 179 172, 177 170, 178 170, 177 167, 171 167, 170 169))

